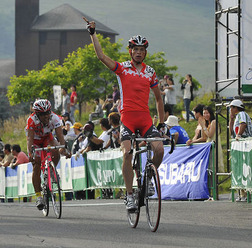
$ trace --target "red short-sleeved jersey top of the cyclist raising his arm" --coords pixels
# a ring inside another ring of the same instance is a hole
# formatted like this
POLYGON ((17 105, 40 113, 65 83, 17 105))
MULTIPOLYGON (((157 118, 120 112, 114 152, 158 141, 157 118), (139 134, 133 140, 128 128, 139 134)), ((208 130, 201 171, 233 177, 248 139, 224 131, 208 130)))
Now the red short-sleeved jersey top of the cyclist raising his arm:
POLYGON ((128 111, 149 112, 150 88, 158 86, 158 79, 152 67, 144 63, 142 66, 139 73, 131 61, 116 62, 116 66, 112 70, 117 75, 120 88, 121 113, 128 111))

